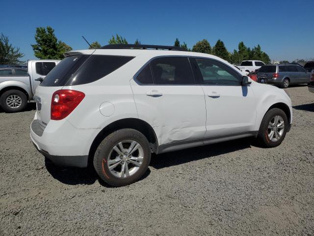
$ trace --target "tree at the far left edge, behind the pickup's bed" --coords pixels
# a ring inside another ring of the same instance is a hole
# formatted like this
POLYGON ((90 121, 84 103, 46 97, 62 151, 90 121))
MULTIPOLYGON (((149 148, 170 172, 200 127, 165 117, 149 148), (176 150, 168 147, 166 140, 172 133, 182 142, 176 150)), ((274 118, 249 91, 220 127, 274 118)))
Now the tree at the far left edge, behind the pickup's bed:
POLYGON ((13 47, 9 43, 9 38, 1 33, 0 37, 0 64, 19 64, 24 61, 20 60, 24 54, 20 48, 13 47))

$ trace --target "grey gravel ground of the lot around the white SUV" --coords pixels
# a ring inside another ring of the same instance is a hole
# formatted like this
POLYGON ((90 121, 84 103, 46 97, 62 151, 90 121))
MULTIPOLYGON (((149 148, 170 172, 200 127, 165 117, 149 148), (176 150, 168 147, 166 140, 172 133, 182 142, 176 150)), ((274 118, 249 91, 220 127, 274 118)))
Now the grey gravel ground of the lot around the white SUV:
POLYGON ((0 111, 0 235, 314 235, 314 94, 287 90, 294 121, 281 146, 155 155, 120 188, 45 162, 29 138, 34 104, 0 111))

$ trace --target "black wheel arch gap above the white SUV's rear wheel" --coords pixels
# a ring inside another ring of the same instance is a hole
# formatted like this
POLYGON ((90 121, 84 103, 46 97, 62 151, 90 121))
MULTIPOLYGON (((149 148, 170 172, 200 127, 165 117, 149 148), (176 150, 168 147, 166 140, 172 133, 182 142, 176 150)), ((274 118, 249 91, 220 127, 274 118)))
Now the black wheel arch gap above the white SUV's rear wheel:
POLYGON ((100 143, 114 131, 131 128, 141 132, 148 140, 152 152, 157 151, 158 140, 153 127, 146 121, 138 118, 124 118, 116 120, 103 128, 94 139, 88 153, 88 165, 92 165, 95 151, 100 143))

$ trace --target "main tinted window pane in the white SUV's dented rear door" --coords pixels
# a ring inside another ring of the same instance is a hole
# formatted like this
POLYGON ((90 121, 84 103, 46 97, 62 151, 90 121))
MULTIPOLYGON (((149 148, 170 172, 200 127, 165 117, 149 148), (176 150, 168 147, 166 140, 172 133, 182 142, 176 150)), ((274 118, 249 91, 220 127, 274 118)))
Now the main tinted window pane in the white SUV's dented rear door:
POLYGON ((151 62, 155 84, 191 85, 194 77, 187 58, 158 58, 151 62))

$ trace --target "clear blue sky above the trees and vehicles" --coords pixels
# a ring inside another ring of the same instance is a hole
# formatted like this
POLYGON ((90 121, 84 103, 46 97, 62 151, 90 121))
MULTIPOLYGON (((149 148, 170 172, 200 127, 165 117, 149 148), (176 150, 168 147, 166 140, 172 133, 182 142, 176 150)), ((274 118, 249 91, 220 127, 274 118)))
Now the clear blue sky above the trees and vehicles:
POLYGON ((173 45, 176 37, 192 47, 221 39, 228 51, 240 41, 262 46, 271 59, 314 58, 314 0, 1 1, 0 32, 24 59, 35 59, 30 44, 36 27, 51 26, 73 49, 107 44, 118 33, 133 43, 173 45))

